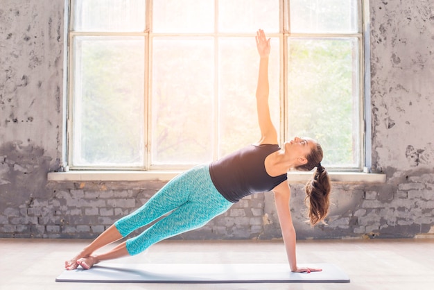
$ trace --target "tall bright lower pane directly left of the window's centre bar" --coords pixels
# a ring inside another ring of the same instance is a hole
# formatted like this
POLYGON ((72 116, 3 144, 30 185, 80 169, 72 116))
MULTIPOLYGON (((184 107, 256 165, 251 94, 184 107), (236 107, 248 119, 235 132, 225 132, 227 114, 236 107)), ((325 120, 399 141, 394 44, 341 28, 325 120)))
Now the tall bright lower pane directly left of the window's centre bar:
POLYGON ((155 37, 151 79, 152 164, 210 161, 214 40, 155 37))

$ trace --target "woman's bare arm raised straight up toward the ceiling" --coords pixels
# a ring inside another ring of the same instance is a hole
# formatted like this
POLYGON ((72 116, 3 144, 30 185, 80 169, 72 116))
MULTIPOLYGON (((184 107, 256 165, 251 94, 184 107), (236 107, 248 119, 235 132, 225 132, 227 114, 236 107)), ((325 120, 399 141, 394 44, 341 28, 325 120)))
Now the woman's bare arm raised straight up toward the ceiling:
POLYGON ((257 49, 259 53, 259 76, 257 85, 257 111, 261 139, 259 144, 277 144, 277 131, 273 126, 270 117, 270 106, 268 105, 268 56, 270 56, 270 38, 259 29, 256 36, 257 49))

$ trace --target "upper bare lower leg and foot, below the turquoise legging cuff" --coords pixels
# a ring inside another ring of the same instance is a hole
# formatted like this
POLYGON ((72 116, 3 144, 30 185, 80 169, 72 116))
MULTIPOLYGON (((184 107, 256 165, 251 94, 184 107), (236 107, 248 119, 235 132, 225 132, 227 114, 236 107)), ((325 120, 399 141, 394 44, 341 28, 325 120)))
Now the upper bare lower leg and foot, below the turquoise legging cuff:
POLYGON ((64 263, 67 270, 73 270, 78 267, 78 259, 89 257, 98 248, 112 244, 114 241, 122 239, 121 233, 116 229, 114 225, 110 225, 102 234, 100 234, 91 244, 86 246, 76 257, 73 257, 69 261, 64 263))

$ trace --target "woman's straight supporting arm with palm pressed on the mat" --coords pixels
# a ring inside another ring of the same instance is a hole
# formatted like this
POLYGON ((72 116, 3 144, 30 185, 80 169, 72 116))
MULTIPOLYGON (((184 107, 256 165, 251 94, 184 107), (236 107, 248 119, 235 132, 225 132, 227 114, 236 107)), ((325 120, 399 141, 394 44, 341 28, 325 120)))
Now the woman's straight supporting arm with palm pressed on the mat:
POLYGON ((289 207, 290 187, 287 182, 281 182, 281 184, 277 185, 277 187, 272 191, 275 193, 277 216, 279 216, 281 234, 284 238, 286 256, 288 257, 291 271, 307 273, 321 271, 319 268, 299 268, 297 266, 297 255, 295 250, 296 234, 289 207))

